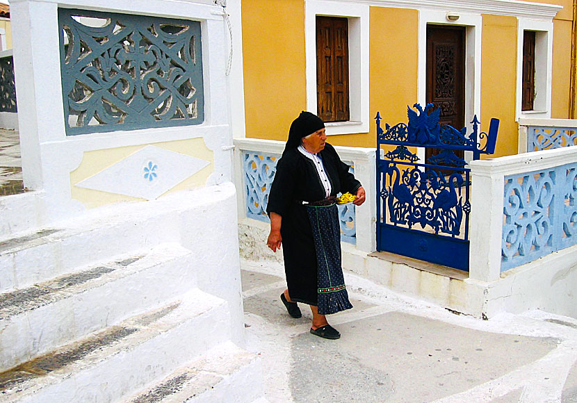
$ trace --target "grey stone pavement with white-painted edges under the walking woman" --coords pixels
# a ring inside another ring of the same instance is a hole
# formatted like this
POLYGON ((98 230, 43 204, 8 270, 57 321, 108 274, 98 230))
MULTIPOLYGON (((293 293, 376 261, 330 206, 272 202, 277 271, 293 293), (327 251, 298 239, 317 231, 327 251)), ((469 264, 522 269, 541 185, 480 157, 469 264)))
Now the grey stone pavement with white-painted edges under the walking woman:
POLYGON ((270 403, 577 402, 577 320, 532 311, 483 321, 346 273, 340 340, 309 334, 279 300, 282 265, 242 262, 247 348, 270 403))

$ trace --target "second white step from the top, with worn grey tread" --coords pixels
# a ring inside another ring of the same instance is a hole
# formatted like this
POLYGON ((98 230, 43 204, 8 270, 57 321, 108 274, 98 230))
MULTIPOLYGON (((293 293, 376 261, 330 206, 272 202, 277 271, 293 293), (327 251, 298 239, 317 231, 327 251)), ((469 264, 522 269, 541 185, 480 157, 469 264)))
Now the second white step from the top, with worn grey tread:
POLYGON ((194 263, 188 249, 161 244, 0 294, 0 371, 192 290, 194 263))

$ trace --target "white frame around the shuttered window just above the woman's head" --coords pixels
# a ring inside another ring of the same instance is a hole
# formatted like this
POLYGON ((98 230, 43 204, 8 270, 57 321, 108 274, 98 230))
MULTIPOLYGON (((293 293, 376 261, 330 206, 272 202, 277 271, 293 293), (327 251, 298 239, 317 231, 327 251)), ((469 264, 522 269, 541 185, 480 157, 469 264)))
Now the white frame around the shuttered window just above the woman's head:
POLYGON ((327 122, 327 135, 368 133, 369 81, 368 5, 339 1, 307 0, 304 11, 304 42, 307 76, 307 110, 317 113, 316 16, 348 18, 349 115, 348 122, 327 122))

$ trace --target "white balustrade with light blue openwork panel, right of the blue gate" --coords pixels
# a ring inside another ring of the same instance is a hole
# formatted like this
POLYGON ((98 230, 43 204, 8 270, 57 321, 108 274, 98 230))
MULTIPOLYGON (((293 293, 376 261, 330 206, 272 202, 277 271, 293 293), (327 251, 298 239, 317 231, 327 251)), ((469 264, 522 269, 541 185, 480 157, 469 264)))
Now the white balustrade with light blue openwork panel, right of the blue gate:
POLYGON ((472 279, 577 244, 577 147, 471 162, 472 279))

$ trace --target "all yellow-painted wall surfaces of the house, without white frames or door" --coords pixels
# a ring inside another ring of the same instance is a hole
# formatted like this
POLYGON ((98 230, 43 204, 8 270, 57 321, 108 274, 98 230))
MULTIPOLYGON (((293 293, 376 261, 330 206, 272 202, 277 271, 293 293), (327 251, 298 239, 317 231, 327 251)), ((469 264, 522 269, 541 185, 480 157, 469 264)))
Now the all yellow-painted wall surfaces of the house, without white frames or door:
MULTIPOLYGON (((569 117, 573 0, 530 0, 563 6, 554 19, 552 117, 569 117)), ((286 140, 292 120, 306 108, 304 1, 243 0, 243 57, 248 138, 286 140)), ((482 131, 501 120, 495 156, 517 154, 515 122, 517 19, 482 16, 482 131)), ((370 132, 331 136, 333 145, 375 146, 373 117, 407 121, 417 100, 418 11, 371 7, 370 132)), ((316 112, 312 110, 311 112, 316 112)))

